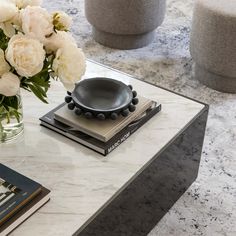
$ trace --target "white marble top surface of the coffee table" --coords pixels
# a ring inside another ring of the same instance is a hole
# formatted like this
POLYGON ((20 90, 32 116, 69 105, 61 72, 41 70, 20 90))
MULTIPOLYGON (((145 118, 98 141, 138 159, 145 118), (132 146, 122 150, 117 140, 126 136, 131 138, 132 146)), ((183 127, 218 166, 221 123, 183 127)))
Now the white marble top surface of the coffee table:
POLYGON ((159 101, 162 112, 103 157, 39 126, 39 117, 64 100, 65 90, 59 82, 52 83, 49 105, 23 91, 24 136, 18 142, 0 146, 0 162, 49 188, 51 200, 12 235, 73 234, 118 194, 204 107, 88 61, 85 77, 97 76, 132 84, 139 94, 159 101))

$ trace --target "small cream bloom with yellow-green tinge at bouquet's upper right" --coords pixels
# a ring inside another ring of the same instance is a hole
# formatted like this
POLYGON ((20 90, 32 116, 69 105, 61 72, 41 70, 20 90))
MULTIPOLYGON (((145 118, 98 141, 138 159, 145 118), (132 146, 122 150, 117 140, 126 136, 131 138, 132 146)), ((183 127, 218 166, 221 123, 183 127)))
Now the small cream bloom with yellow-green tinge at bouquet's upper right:
POLYGON ((72 24, 72 18, 63 11, 56 11, 52 14, 53 25, 56 30, 68 31, 72 24))

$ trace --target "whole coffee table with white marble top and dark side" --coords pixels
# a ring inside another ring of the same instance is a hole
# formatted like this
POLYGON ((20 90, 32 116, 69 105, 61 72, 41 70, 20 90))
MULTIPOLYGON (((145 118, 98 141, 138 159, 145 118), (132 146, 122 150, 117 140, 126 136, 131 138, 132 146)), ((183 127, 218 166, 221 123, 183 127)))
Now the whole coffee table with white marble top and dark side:
POLYGON ((23 92, 25 133, 0 146, 0 161, 49 188, 51 200, 12 235, 147 235, 197 178, 208 106, 88 61, 86 77, 97 76, 132 84, 161 113, 103 157, 39 126, 63 102, 60 83, 49 105, 23 92))

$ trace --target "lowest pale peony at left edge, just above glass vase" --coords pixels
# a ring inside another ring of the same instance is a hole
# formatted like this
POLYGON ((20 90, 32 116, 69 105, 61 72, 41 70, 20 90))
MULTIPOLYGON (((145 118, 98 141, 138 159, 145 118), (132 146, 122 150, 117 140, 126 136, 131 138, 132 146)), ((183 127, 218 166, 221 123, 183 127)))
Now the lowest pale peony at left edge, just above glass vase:
POLYGON ((0 94, 10 97, 15 96, 20 88, 19 78, 11 72, 0 77, 0 94))

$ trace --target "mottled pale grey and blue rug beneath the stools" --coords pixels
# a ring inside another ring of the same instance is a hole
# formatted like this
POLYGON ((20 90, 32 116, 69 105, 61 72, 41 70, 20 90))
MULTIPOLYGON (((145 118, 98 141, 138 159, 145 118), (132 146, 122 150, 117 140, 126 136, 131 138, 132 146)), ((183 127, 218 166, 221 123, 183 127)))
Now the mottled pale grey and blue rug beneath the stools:
POLYGON ((73 17, 73 34, 88 58, 210 104, 199 177, 149 236, 236 235, 236 95, 216 92, 193 78, 193 0, 167 0, 166 19, 154 42, 130 51, 97 44, 83 4, 44 0, 50 11, 64 10, 73 17))

